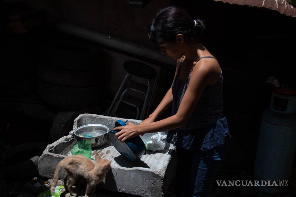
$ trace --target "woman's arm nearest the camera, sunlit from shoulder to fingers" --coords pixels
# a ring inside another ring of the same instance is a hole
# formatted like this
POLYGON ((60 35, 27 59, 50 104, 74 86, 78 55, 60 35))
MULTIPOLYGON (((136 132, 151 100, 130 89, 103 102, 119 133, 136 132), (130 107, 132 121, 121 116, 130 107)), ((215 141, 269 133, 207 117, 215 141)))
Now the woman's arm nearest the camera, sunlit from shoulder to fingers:
POLYGON ((219 77, 220 70, 217 69, 216 65, 200 64, 193 69, 190 75, 188 88, 175 115, 153 123, 140 125, 129 123, 127 126, 116 127, 114 130, 121 131, 115 135, 119 140, 125 141, 139 134, 166 131, 185 126, 196 108, 205 87, 213 84, 219 77))

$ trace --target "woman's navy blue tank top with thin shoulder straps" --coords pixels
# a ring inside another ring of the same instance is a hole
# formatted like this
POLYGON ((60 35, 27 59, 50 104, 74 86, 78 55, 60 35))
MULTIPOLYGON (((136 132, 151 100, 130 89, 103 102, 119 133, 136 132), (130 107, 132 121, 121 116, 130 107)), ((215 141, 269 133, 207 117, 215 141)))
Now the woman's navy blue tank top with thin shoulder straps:
MULTIPOLYGON (((190 74, 187 81, 180 80, 180 70, 183 61, 180 61, 177 74, 172 85, 173 102, 172 113, 177 113, 179 105, 189 85, 190 74)), ((199 58, 215 58, 213 56, 205 56, 199 58)), ((197 60, 197 62, 199 61, 197 60)), ((196 63, 197 63, 196 62, 196 63)), ((176 147, 196 150, 209 150, 215 146, 225 142, 226 137, 231 137, 228 131, 227 120, 222 113, 223 100, 223 75, 214 85, 208 85, 203 91, 197 106, 192 113, 188 123, 181 128, 169 130, 167 134, 167 142, 173 143, 176 147)))

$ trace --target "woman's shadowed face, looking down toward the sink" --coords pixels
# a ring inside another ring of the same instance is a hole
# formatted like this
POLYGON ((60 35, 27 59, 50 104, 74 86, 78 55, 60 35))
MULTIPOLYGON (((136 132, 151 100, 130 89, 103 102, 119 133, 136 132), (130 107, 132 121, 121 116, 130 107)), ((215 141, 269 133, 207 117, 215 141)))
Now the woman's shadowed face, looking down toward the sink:
POLYGON ((174 60, 180 59, 183 55, 182 47, 177 40, 175 42, 161 43, 159 44, 159 47, 162 54, 167 54, 167 56, 174 60))

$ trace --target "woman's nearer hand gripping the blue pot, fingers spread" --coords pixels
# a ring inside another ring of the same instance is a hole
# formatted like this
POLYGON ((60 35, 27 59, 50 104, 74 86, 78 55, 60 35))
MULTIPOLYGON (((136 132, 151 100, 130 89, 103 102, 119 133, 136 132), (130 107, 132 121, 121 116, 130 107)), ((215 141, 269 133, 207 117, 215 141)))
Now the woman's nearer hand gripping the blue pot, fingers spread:
POLYGON ((115 136, 118 140, 121 140, 122 142, 129 138, 136 137, 140 134, 138 126, 133 123, 128 123, 126 126, 115 127, 113 130, 121 130, 115 133, 115 136))

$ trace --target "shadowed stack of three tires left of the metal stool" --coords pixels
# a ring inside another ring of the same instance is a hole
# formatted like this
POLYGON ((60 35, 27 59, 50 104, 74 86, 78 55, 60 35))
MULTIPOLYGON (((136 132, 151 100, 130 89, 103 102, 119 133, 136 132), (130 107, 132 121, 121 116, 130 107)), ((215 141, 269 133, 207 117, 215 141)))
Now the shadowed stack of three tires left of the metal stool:
POLYGON ((100 102, 102 50, 77 41, 44 46, 38 68, 37 92, 53 107, 84 109, 100 102))

